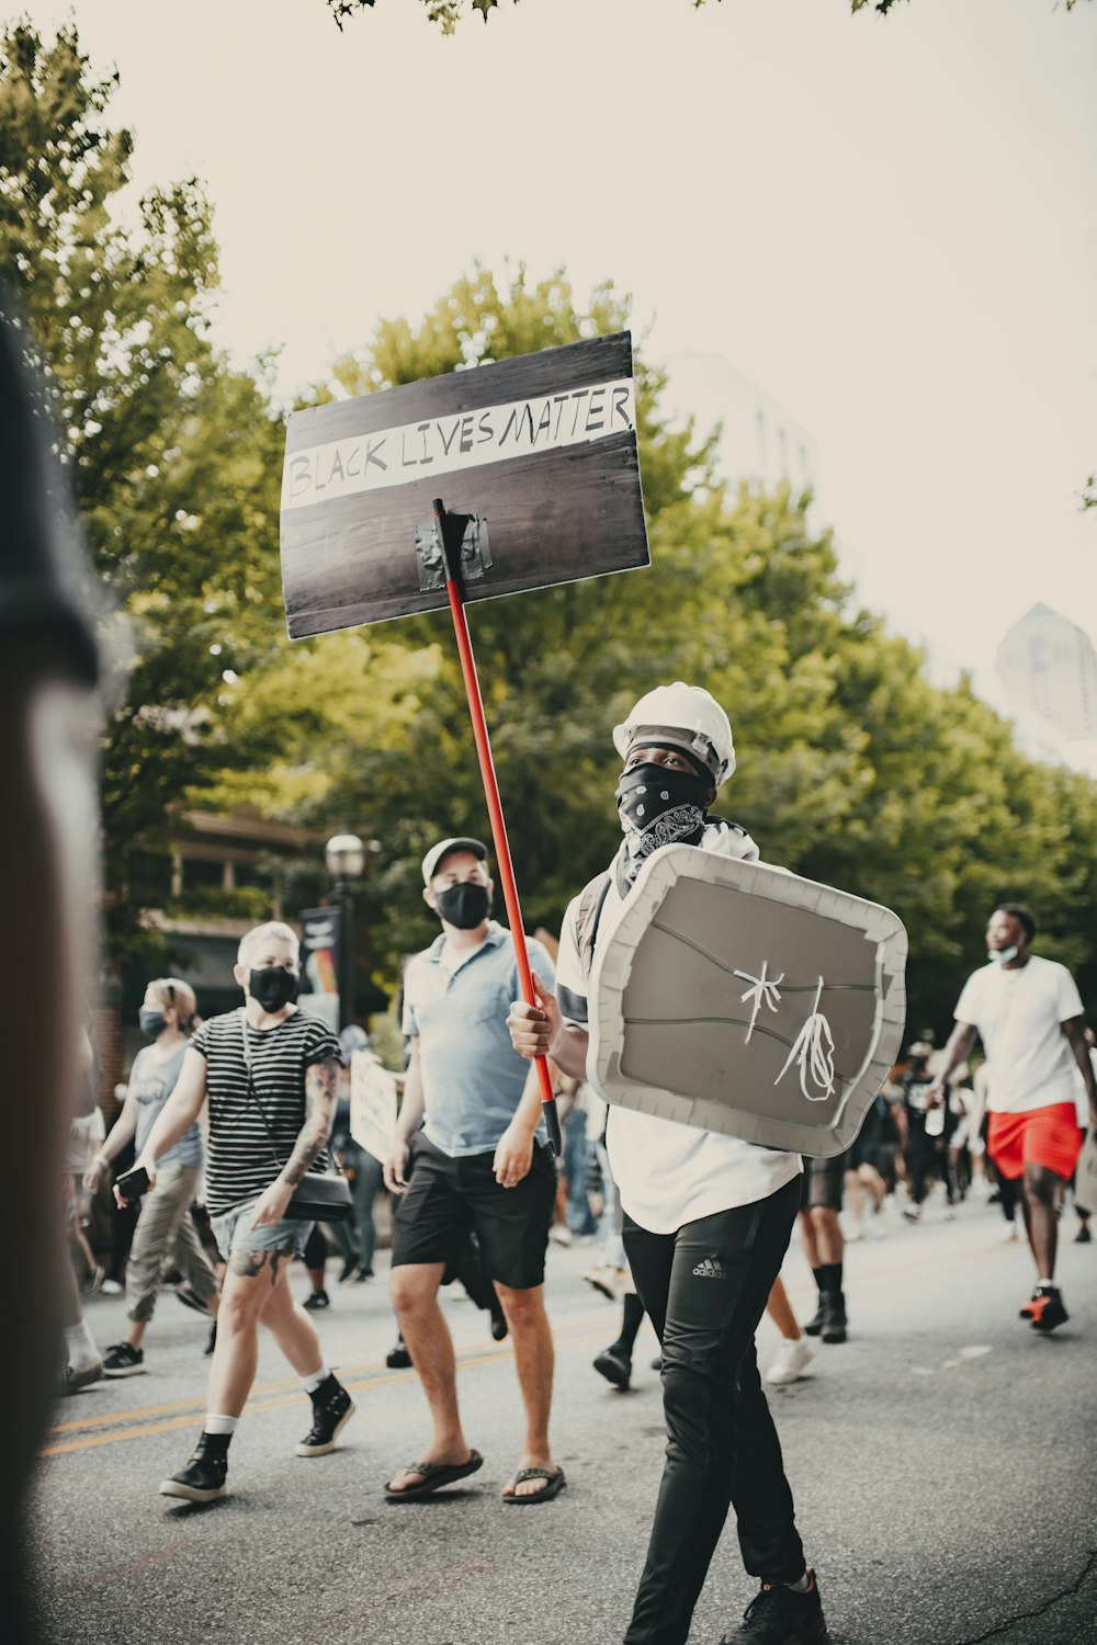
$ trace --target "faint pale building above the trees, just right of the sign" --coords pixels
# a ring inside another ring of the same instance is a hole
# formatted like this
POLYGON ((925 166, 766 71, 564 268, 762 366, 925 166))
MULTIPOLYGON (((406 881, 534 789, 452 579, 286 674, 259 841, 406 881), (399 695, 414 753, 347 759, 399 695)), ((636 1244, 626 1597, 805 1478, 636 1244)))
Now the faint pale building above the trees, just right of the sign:
POLYGON ((676 354, 666 362, 673 415, 696 418, 697 433, 720 423, 719 467, 724 479, 817 489, 819 454, 808 431, 757 383, 717 354, 676 354))

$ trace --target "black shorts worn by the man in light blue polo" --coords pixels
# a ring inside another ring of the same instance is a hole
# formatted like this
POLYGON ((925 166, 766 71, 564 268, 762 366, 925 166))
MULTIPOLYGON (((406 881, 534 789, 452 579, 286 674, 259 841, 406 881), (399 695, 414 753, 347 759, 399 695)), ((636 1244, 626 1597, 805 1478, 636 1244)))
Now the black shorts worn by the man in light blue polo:
POLYGON ((502 1188, 492 1153, 451 1158, 423 1133, 411 1142, 411 1183, 393 1219, 391 1267, 452 1263, 475 1230, 488 1277, 511 1291, 544 1283, 544 1252, 556 1204, 556 1165, 533 1147, 533 1165, 502 1188))

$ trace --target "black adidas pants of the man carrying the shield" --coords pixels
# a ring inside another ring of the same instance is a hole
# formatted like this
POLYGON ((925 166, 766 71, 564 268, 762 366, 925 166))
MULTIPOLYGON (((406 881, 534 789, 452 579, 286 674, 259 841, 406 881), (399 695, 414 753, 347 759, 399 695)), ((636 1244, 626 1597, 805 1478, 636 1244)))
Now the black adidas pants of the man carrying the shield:
POLYGON ((735 1507, 752 1576, 794 1582, 804 1550, 781 1444, 758 1379, 755 1329, 781 1270, 799 1178, 768 1199, 650 1234, 625 1250, 663 1344, 666 1464, 625 1645, 684 1645, 709 1561, 735 1507))

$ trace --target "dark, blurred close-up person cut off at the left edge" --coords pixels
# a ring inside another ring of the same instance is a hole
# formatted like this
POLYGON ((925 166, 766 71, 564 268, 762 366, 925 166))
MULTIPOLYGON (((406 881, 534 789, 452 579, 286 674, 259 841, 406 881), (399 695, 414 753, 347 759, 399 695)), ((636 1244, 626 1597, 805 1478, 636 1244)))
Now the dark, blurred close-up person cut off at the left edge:
MULTIPOLYGON (((95 971, 99 660, 87 569, 25 364, 31 352, 0 288, 0 997, 16 1030, 5 1053, 12 1133, 23 1161, 41 1165, 10 1171, 0 1194, 0 1250, 20 1253, 5 1281, 18 1352, 0 1362, 0 1395, 13 1418, 0 1464, 7 1645, 36 1637, 28 1490, 58 1380, 61 1326, 82 1324, 56 1183, 69 1124, 95 1104, 82 985, 95 971)), ((71 1339, 67 1347, 71 1374, 79 1365, 71 1339)), ((87 1359, 90 1369, 97 1355, 87 1359)))

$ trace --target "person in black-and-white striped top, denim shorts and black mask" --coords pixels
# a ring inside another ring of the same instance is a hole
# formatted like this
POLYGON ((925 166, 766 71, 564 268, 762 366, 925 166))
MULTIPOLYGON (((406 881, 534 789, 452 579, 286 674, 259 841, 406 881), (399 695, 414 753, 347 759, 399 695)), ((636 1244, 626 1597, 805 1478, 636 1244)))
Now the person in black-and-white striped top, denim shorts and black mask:
POLYGON ((206 1206, 229 1267, 202 1433, 189 1462, 160 1487, 161 1495, 187 1502, 225 1495, 229 1444, 255 1382, 260 1324, 312 1403, 312 1425, 298 1456, 327 1456, 354 1415, 350 1395, 324 1362, 312 1321, 289 1290, 289 1263, 303 1253, 312 1222, 286 1216, 304 1176, 331 1163, 339 1041, 319 1017, 294 1003, 299 944, 289 926, 268 921, 248 931, 234 977, 243 989, 243 1007, 211 1017, 197 1030, 137 1161, 155 1194, 161 1158, 209 1099, 206 1206))

